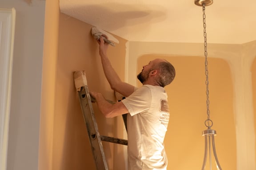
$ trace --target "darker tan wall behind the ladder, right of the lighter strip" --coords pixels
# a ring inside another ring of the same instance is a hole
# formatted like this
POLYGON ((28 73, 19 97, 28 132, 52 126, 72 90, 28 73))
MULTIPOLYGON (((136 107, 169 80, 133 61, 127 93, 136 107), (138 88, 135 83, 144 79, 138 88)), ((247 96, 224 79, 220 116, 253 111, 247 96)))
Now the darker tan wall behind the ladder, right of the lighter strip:
MULTIPOLYGON (((99 91, 107 99, 114 100, 113 91, 105 79, 98 44, 91 35, 92 26, 60 13, 59 51, 56 64, 53 123, 53 170, 95 169, 92 151, 73 72, 85 70, 90 91, 99 91)), ((109 57, 121 79, 124 79, 126 41, 120 39, 116 47, 109 47, 109 57)), ((100 134, 117 136, 116 119, 105 119, 94 104, 100 134)), ((119 136, 120 137, 120 136, 119 136)), ((110 169, 124 169, 123 151, 111 143, 103 142, 110 169), (114 156, 116 156, 114 158, 114 156), (115 162, 115 163, 114 163, 115 162), (119 162, 116 164, 116 162, 119 162), (119 167, 117 167, 119 166, 119 167)))

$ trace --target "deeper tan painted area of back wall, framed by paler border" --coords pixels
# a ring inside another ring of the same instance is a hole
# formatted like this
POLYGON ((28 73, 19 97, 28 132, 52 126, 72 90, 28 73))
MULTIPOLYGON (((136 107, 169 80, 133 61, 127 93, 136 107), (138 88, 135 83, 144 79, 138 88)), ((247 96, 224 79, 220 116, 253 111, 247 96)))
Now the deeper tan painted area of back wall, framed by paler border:
MULTIPOLYGON (((138 68, 155 58, 167 59, 176 68, 176 78, 165 87, 170 105, 170 121, 165 138, 168 170, 198 170, 202 166, 207 127, 204 58, 197 56, 142 55, 138 68)), ((209 61, 210 112, 217 131, 216 150, 220 165, 235 170, 236 134, 233 119, 233 89, 230 68, 223 59, 209 61), (219 83, 221 82, 221 83, 219 83)), ((215 170, 215 169, 213 169, 215 170)))

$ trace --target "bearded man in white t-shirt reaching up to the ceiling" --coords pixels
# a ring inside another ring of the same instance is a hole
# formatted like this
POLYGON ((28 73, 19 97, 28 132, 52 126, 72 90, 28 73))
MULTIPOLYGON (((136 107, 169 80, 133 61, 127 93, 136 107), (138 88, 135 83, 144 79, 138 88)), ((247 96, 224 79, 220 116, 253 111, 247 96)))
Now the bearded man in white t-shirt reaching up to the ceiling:
POLYGON ((164 150, 164 136, 167 131, 169 113, 164 86, 172 82, 175 69, 164 59, 154 59, 143 66, 137 78, 143 84, 137 88, 120 80, 108 57, 108 43, 103 37, 98 40, 104 74, 111 88, 126 99, 110 104, 100 93, 91 92, 99 110, 107 118, 129 113, 128 169, 166 170, 167 156, 164 150))

